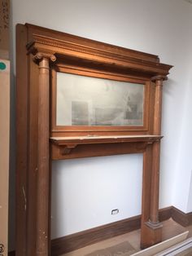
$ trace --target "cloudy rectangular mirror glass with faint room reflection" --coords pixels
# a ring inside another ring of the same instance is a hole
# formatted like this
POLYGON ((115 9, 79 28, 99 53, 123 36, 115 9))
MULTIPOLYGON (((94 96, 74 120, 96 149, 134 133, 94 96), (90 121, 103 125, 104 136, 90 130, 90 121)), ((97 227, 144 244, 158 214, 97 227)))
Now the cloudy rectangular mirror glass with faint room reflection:
POLYGON ((143 126, 144 85, 57 73, 57 126, 143 126))

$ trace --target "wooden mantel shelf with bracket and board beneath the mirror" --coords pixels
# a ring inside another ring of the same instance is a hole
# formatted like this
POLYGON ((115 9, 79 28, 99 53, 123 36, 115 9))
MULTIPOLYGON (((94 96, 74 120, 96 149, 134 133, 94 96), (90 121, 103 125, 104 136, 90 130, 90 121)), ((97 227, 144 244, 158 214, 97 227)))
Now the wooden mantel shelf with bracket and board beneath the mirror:
POLYGON ((148 144, 162 138, 160 135, 51 137, 51 158, 58 160, 141 153, 148 144))

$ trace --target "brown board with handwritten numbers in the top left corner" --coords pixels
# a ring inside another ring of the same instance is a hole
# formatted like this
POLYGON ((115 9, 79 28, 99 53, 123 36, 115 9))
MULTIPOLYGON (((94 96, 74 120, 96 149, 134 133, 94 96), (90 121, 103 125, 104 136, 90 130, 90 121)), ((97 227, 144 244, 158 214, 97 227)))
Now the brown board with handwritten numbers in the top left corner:
POLYGON ((9 59, 10 1, 0 0, 0 58, 9 59))

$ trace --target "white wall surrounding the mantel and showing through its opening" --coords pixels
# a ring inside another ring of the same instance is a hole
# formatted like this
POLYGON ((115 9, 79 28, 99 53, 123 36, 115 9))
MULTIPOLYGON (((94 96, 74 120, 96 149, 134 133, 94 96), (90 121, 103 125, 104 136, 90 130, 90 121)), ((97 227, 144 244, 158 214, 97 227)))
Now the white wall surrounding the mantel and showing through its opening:
MULTIPOLYGON (((161 62, 174 65, 164 85, 159 206, 192 210, 188 200, 192 190, 192 4, 182 0, 17 0, 12 6, 14 29, 17 23, 37 24, 159 55, 161 62)), ((139 214, 141 163, 141 156, 131 155, 54 162, 52 236, 139 214), (111 216, 114 208, 120 214, 111 216)))

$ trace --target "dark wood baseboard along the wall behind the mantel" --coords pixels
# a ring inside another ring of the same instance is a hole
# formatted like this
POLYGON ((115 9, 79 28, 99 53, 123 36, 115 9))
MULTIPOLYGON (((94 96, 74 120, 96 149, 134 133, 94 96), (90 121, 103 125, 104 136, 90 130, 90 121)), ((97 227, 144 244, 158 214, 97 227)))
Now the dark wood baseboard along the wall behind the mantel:
MULTIPOLYGON (((159 210, 159 220, 171 218, 172 206, 159 210)), ((72 250, 92 245, 99 241, 132 232, 141 227, 141 215, 126 218, 115 223, 94 227, 83 232, 63 236, 51 241, 51 255, 66 254, 72 250)))

